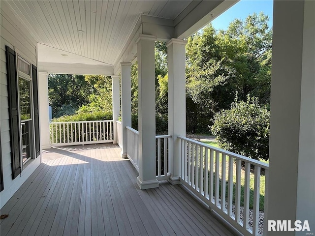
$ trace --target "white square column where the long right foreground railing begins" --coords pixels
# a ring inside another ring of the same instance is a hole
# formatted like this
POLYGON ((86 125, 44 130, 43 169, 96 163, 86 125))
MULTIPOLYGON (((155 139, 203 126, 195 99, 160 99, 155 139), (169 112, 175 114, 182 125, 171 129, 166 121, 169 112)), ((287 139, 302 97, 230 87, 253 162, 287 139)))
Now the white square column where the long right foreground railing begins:
POLYGON ((186 136, 185 45, 187 41, 172 38, 167 44, 168 63, 168 134, 170 182, 178 184, 181 166, 181 143, 178 136, 186 136))

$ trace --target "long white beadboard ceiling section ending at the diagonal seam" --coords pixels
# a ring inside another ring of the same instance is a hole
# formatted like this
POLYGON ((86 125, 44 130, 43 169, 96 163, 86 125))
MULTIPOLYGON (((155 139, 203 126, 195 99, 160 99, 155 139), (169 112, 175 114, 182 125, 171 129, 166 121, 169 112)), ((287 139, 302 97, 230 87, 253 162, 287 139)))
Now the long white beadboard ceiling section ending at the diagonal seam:
POLYGON ((6 2, 38 43, 113 64, 141 13, 175 19, 191 0, 6 2))

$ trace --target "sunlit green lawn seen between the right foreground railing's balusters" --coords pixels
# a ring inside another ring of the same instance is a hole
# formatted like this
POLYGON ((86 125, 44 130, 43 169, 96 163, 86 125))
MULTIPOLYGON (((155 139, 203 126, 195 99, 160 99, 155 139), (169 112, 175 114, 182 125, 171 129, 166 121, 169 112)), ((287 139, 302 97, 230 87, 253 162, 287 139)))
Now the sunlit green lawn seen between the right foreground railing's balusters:
MULTIPOLYGON (((206 142, 202 142, 204 144, 210 145, 210 146, 214 146, 217 148, 220 148, 218 146, 218 143, 216 142, 212 142, 212 141, 206 141, 206 142)), ((214 155, 215 156, 215 155, 214 155)), ((220 176, 220 194, 221 194, 221 162, 222 162, 222 158, 221 158, 221 154, 220 154, 220 170, 219 170, 219 176, 220 176)), ((268 163, 266 161, 264 161, 265 163, 268 163)), ((216 158, 214 158, 214 172, 215 170, 215 163, 216 163, 216 158)), ((226 198, 227 198, 227 183, 228 183, 228 157, 226 157, 226 198)), ((214 176, 214 180, 215 180, 215 176, 214 176)), ((236 163, 233 164, 233 204, 235 203, 235 183, 236 183, 236 163)), ((241 206, 244 206, 244 184, 245 184, 245 170, 242 167, 241 168, 241 206)), ((254 193, 254 174, 251 172, 250 173, 250 209, 253 208, 253 193, 254 193)), ((260 175, 260 188, 259 188, 259 209, 263 211, 264 209, 264 196, 265 196, 265 176, 264 175, 260 175)), ((220 196, 221 198, 221 196, 220 196)))

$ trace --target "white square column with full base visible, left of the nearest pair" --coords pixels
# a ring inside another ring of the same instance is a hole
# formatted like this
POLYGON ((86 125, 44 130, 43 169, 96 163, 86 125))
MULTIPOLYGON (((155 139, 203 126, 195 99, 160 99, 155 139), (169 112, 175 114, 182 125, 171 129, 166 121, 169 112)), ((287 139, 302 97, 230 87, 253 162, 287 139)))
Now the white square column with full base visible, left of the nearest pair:
POLYGON ((157 37, 140 34, 136 40, 138 58, 139 177, 140 189, 158 187, 156 178, 155 56, 157 37))

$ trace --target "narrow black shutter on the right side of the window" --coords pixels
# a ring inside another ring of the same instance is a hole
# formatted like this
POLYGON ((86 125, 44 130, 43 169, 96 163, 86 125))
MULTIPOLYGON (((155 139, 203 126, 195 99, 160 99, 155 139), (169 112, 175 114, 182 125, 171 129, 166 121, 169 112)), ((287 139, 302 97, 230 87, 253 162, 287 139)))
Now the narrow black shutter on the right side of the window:
POLYGON ((35 123, 35 157, 40 155, 40 137, 39 137, 39 114, 38 114, 38 84, 37 68, 32 65, 33 76, 33 97, 34 97, 34 123, 35 123))

